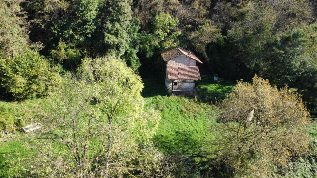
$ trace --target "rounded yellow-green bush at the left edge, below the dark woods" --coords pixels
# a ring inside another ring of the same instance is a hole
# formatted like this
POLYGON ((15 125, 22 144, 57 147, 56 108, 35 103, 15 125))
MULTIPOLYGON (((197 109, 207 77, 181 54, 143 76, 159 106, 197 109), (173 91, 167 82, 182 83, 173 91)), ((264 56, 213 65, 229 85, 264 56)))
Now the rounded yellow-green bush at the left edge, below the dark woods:
POLYGON ((49 63, 36 51, 0 59, 0 82, 15 99, 44 96, 58 80, 49 63))

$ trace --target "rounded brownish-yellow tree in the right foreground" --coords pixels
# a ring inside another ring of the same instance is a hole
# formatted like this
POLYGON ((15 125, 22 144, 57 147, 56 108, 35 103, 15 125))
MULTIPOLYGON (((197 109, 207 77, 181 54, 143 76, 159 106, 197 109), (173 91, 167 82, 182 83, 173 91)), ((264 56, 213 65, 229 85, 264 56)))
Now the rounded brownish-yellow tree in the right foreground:
POLYGON ((224 122, 219 160, 241 176, 269 175, 274 164, 287 166, 308 149, 310 116, 301 98, 257 76, 252 81, 238 82, 218 118, 224 122))

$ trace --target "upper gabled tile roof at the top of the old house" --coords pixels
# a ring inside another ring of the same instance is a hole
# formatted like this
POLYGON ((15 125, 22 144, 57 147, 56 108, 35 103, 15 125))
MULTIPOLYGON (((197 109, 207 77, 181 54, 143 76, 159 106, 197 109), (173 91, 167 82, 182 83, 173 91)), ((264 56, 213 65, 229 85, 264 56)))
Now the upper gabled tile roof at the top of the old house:
POLYGON ((197 56, 195 56, 193 53, 191 53, 190 51, 187 51, 186 49, 181 48, 179 46, 177 46, 176 48, 167 49, 167 50, 163 51, 161 54, 162 54, 164 61, 169 61, 175 57, 178 57, 181 54, 184 54, 184 55, 202 63, 202 61, 200 61, 197 58, 197 56))

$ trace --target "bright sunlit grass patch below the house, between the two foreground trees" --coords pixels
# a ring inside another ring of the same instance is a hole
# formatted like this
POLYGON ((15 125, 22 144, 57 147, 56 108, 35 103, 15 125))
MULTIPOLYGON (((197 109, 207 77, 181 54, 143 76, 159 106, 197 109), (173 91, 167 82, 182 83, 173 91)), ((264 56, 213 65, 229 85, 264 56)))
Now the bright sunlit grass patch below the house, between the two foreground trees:
POLYGON ((145 99, 146 107, 161 113, 161 121, 154 143, 164 153, 201 155, 203 147, 211 144, 215 133, 211 125, 217 125, 220 112, 214 105, 198 103, 185 97, 156 96, 145 99))

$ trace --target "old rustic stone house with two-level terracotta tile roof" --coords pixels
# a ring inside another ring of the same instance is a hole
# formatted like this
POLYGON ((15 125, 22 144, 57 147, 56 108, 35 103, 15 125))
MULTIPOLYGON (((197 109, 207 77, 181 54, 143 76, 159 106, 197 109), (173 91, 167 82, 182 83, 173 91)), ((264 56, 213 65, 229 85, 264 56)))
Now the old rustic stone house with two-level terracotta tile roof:
POLYGON ((166 62, 165 85, 172 95, 194 95, 195 83, 201 80, 197 62, 202 63, 197 56, 181 47, 162 52, 166 62))

